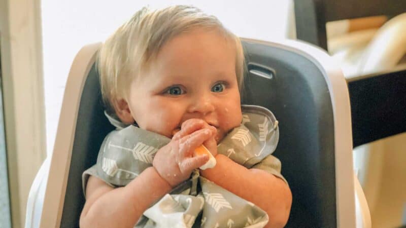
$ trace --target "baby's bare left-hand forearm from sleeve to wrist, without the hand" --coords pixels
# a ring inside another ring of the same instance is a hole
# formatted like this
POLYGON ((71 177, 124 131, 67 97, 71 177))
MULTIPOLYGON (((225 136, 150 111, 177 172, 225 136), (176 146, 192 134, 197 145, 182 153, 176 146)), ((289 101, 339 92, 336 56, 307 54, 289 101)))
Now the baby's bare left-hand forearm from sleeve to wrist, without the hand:
POLYGON ((171 188, 154 167, 118 188, 90 176, 80 227, 133 227, 144 211, 171 188))

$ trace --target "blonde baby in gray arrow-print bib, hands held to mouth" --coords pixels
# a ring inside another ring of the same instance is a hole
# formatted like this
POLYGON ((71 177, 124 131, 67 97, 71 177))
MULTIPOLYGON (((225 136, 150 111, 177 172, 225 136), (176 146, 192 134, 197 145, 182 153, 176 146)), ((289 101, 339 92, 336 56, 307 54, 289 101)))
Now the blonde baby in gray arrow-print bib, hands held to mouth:
POLYGON ((292 196, 269 110, 241 105, 241 42, 190 6, 142 9, 97 61, 106 136, 83 174, 81 227, 282 227, 292 196), (207 155, 217 164, 201 170, 207 155))

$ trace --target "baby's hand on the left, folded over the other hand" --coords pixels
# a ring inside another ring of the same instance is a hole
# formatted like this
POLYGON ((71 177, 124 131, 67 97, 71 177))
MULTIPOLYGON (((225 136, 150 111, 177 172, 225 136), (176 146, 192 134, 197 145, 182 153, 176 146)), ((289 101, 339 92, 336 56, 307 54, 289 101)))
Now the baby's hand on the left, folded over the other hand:
POLYGON ((182 124, 182 129, 174 135, 171 142, 157 151, 152 165, 174 187, 209 160, 207 155, 193 157, 193 152, 205 141, 214 138, 214 135, 213 129, 204 127, 202 123, 182 124))

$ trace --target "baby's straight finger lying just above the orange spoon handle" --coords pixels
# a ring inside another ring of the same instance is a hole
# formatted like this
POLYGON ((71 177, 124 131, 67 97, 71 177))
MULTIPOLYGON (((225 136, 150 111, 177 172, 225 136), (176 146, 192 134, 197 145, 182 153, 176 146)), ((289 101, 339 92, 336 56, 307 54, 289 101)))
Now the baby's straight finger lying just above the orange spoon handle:
POLYGON ((209 129, 200 129, 179 140, 179 151, 182 158, 191 157, 195 148, 213 136, 209 129))

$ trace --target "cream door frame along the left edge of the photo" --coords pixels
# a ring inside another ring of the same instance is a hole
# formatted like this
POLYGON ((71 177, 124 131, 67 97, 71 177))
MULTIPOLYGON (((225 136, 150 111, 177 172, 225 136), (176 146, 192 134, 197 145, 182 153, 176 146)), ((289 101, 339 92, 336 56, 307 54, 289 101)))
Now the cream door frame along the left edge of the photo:
POLYGON ((0 0, 11 219, 23 227, 29 188, 46 157, 41 1, 0 0))

